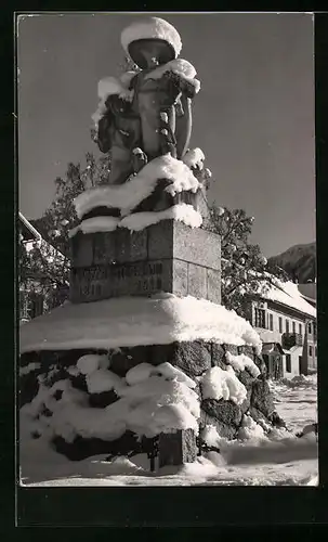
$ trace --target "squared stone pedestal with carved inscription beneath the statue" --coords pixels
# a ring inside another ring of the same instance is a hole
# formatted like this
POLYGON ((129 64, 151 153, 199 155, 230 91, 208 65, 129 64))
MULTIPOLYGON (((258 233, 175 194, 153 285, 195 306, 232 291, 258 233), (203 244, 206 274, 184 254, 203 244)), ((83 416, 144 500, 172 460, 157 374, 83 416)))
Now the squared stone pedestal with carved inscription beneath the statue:
POLYGON ((220 236, 163 220, 71 238, 71 302, 168 292, 221 302, 220 236))

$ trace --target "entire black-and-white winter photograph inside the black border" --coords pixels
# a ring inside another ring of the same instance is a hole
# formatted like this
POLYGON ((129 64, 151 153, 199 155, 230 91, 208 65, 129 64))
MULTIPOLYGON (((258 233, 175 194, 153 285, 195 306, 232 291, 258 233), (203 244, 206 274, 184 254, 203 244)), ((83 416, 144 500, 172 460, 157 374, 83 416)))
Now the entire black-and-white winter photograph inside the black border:
POLYGON ((314 16, 16 21, 24 487, 317 486, 314 16))

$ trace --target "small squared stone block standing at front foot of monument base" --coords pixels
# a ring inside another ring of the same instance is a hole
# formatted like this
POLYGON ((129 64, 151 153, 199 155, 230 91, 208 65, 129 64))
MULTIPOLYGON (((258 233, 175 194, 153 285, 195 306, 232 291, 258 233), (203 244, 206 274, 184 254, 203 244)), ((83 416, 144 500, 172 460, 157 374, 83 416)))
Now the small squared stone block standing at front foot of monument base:
POLYGON ((197 457, 196 436, 193 429, 161 433, 158 439, 159 467, 194 463, 197 457))

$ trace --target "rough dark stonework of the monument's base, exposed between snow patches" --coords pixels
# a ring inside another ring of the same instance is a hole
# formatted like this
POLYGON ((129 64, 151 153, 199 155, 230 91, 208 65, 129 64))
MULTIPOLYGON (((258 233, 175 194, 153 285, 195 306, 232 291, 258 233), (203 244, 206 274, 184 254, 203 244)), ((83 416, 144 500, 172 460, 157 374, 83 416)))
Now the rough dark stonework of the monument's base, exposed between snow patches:
MULTIPOLYGON (((78 360, 82 356, 90 353, 107 354, 109 359, 108 370, 122 379, 131 369, 141 363, 149 363, 155 366, 170 363, 180 369, 196 385, 194 391, 198 396, 200 406, 200 442, 201 429, 209 425, 214 426, 222 437, 237 438, 246 414, 251 415, 255 421, 264 420, 268 425, 281 422, 274 413, 270 388, 265 380, 265 365, 262 358, 258 356, 255 348, 251 346, 219 345, 204 340, 122 347, 109 350, 109 352, 95 349, 27 352, 21 358, 21 408, 30 403, 38 393, 38 377, 40 376, 43 386, 49 389, 57 382, 68 379, 73 388, 84 393, 89 402, 88 409, 91 418, 94 413, 99 412, 101 415, 101 412, 107 406, 119 401, 119 390, 117 393, 114 390, 90 391, 88 389, 88 377, 83 374, 75 374, 74 369, 77 366, 78 360), (202 397, 201 377, 211 367, 218 366, 226 370, 228 367, 227 352, 234 356, 248 356, 261 371, 258 378, 252 377, 247 371, 238 373, 238 379, 247 389, 247 399, 239 405, 231 400, 215 400, 202 397), (31 364, 34 367, 31 367, 31 364), (27 371, 26 367, 31 369, 27 371)), ((55 399, 61 400, 57 396, 55 399)), ((47 416, 47 421, 51 423, 53 412, 51 405, 49 406, 40 412, 40 416, 47 416)), ((34 438, 38 438, 38 435, 34 436, 34 438)), ((119 438, 109 438, 108 440, 78 435, 73 441, 66 441, 63 437, 56 436, 52 444, 58 453, 64 454, 71 461, 80 461, 87 456, 104 453, 108 454, 108 459, 117 455, 133 456, 133 454, 146 453, 153 464, 154 457, 157 455, 159 467, 182 465, 196 461, 198 450, 196 435, 193 429, 161 433, 158 435, 157 449, 154 448, 154 450, 149 448, 150 440, 146 438, 140 439, 137 435, 128 430, 119 438)))

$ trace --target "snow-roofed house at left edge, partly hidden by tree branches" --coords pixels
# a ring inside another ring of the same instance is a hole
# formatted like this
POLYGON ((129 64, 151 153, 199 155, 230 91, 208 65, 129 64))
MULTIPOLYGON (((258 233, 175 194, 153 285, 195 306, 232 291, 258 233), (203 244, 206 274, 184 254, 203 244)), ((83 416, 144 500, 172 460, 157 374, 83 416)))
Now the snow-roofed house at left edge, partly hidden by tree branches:
MULTIPOLYGON (((44 253, 56 261, 62 261, 64 256, 51 246, 40 232, 27 220, 22 212, 18 214, 18 231, 27 251, 31 250, 36 243, 44 247, 44 253)), ((45 298, 40 281, 30 276, 24 284, 19 284, 19 323, 28 322, 32 318, 39 317, 50 307, 61 305, 68 295, 67 288, 58 291, 54 287, 53 296, 50 300, 45 298)))

